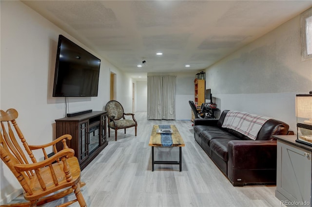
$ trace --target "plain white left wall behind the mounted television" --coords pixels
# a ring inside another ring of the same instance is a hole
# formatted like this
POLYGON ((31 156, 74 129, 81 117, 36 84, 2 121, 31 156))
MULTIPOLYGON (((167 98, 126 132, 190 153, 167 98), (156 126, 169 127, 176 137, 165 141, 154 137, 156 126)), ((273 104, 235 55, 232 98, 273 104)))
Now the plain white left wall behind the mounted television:
MULTIPOLYGON (((132 79, 96 52, 20 1, 0 1, 0 15, 0 108, 19 111, 17 122, 29 144, 39 145, 55 139, 55 120, 65 116, 65 98, 52 97, 59 34, 101 59, 98 97, 69 98, 69 111, 102 110, 109 100, 110 70, 117 74, 117 100, 126 106, 131 103, 132 107, 132 79)), ((21 192, 17 180, 2 161, 0 192, 1 204, 21 192)))

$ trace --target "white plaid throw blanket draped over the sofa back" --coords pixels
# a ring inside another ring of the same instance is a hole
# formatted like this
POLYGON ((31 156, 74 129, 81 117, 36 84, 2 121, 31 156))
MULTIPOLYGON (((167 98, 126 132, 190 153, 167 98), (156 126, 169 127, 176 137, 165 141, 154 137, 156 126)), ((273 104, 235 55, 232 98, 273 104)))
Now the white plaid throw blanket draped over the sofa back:
POLYGON ((222 127, 233 129, 255 140, 262 125, 270 119, 248 112, 230 110, 225 116, 222 127))

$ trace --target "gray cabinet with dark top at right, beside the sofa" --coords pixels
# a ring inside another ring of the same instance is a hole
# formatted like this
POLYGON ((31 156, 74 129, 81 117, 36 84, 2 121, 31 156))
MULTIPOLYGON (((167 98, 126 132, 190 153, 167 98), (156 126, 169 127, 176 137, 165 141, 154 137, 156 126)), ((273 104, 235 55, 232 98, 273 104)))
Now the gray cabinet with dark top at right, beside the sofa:
POLYGON ((295 142, 296 136, 277 138, 275 196, 286 206, 311 206, 312 148, 295 142))

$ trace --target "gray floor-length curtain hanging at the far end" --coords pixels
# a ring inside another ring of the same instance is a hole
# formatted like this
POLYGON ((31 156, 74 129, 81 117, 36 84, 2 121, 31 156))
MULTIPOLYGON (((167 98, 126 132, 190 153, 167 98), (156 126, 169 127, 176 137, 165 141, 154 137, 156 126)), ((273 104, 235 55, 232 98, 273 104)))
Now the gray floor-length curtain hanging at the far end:
POLYGON ((176 76, 147 77, 147 119, 176 119, 176 76))

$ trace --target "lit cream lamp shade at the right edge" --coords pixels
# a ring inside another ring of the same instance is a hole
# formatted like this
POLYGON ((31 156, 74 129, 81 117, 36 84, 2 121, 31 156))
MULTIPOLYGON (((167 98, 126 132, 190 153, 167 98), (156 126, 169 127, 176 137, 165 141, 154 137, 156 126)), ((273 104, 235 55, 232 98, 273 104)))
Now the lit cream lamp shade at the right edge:
POLYGON ((296 96, 296 116, 312 119, 312 95, 296 96))

